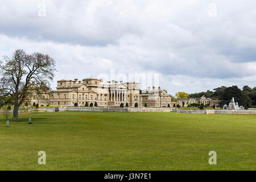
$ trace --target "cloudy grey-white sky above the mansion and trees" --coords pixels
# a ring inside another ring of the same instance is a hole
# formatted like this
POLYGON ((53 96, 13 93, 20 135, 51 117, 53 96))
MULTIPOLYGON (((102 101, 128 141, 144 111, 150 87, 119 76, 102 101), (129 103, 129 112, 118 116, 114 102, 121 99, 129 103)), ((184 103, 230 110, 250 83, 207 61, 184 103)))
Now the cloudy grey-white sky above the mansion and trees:
POLYGON ((255 22, 255 0, 9 0, 0 6, 0 56, 48 54, 52 89, 62 78, 133 74, 147 76, 142 89, 159 85, 172 95, 254 87, 255 22))

